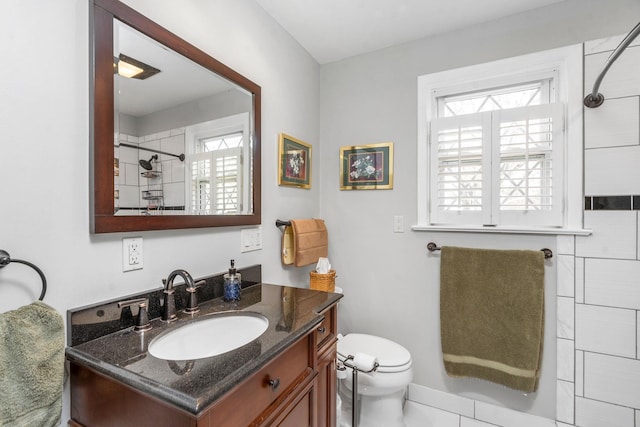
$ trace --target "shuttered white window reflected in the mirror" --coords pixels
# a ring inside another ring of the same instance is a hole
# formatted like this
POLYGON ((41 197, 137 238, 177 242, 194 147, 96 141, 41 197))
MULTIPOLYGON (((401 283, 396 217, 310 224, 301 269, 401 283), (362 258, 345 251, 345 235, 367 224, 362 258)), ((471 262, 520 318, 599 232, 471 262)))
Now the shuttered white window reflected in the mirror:
POLYGON ((243 153, 247 128, 240 116, 232 116, 188 129, 190 176, 187 194, 193 215, 242 212, 246 191, 243 153))

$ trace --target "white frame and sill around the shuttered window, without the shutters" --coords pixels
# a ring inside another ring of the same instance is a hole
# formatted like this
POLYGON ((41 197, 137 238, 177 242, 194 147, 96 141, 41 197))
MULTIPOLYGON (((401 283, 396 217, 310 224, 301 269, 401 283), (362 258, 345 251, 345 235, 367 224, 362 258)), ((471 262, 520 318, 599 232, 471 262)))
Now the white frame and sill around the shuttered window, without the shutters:
POLYGON ((543 52, 472 65, 418 77, 418 223, 420 230, 522 232, 534 234, 585 234, 582 200, 582 46, 573 45, 543 52), (431 203, 429 133, 437 113, 438 98, 554 78, 556 101, 564 104, 565 139, 562 171, 563 219, 561 226, 435 225, 429 216, 431 203))

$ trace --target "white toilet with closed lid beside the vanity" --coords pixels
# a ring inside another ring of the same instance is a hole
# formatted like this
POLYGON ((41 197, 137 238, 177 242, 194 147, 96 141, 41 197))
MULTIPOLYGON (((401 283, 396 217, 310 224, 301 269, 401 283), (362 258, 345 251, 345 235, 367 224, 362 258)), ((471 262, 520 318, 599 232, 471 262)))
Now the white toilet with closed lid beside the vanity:
MULTIPOLYGON (((413 379, 411 353, 398 343, 374 335, 348 334, 338 340, 339 364, 356 353, 371 355, 379 363, 375 372, 358 372, 359 427, 405 427, 402 405, 405 390, 413 379)), ((342 422, 351 426, 350 368, 346 374, 340 390, 348 413, 342 414, 342 422)))

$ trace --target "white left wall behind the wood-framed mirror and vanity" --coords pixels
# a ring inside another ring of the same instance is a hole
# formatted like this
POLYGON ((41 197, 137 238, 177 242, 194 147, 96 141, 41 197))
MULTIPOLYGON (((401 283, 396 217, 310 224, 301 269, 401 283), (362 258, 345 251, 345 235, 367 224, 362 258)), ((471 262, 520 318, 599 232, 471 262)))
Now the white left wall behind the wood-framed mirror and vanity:
MULTIPOLYGON (((195 277, 263 264, 271 282, 300 283, 280 265, 276 218, 319 211, 311 190, 277 185, 277 135, 319 148, 319 66, 253 2, 136 0, 149 15, 262 86, 262 251, 240 254, 238 228, 89 233, 89 9, 87 0, 8 0, 0 5, 0 249, 38 265, 45 302, 66 310, 158 287, 174 268, 195 277), (19 65, 8 66, 15 58, 19 65), (122 272, 122 238, 144 238, 144 269, 122 272)), ((305 282, 302 282, 305 283, 305 282)), ((0 271, 0 312, 40 293, 27 267, 0 271)), ((65 399, 66 422, 68 402, 65 399)))

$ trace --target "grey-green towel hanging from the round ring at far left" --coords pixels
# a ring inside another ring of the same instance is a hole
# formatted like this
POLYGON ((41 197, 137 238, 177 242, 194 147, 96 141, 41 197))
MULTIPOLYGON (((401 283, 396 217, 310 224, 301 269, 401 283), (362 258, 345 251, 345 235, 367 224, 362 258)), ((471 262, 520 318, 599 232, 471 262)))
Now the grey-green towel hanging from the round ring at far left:
POLYGON ((64 322, 36 301, 0 314, 0 426, 58 426, 64 382, 64 322))

